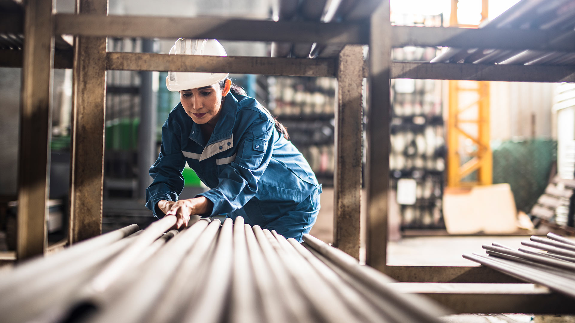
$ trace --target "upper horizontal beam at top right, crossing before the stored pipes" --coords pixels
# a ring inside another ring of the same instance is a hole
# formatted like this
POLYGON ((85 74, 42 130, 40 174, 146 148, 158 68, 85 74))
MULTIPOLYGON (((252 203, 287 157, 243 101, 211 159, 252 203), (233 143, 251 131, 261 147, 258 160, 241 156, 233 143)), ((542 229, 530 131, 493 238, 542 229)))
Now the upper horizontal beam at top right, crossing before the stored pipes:
MULTIPOLYGON (((553 42, 566 35, 565 31, 533 29, 471 29, 454 27, 393 26, 393 47, 457 47, 496 49, 539 49, 575 51, 575 42, 553 42)), ((574 34, 574 32, 570 32, 574 34)))

